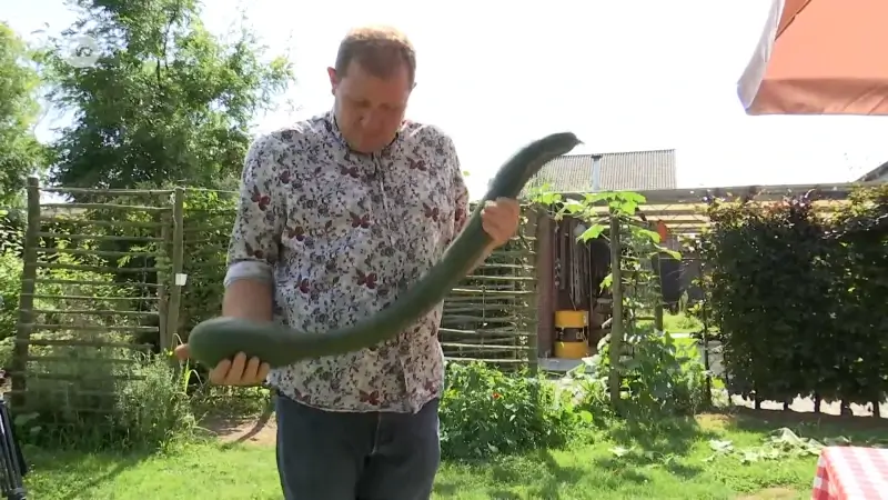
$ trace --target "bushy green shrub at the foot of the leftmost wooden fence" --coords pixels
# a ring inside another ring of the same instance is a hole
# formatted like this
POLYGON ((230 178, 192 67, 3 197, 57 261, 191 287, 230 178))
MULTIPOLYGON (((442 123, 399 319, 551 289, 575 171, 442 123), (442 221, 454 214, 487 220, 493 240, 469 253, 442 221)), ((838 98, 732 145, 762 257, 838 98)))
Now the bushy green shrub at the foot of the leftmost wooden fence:
POLYGON ((71 361, 53 367, 52 376, 74 382, 32 378, 27 412, 14 423, 26 442, 53 448, 154 449, 183 437, 194 427, 183 378, 169 359, 127 350, 53 348, 71 361), (130 359, 133 363, 113 363, 130 359))

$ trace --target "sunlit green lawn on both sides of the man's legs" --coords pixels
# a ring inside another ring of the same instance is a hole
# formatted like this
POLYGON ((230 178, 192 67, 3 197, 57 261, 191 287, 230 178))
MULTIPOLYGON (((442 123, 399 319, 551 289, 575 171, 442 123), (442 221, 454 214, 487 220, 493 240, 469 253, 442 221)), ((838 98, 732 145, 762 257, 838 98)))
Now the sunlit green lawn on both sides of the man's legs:
MULTIPOLYGON (((768 433, 791 427, 804 438, 842 436, 865 442, 881 434, 874 419, 786 420, 778 412, 702 416, 657 429, 616 427, 593 432, 567 450, 500 457, 484 463, 444 463, 435 499, 767 499, 808 498, 816 457, 787 452, 779 460, 743 463, 768 433), (860 426, 862 422, 865 426, 860 426), (713 441, 716 440, 716 441, 713 441), (714 454, 729 442, 733 454, 714 454), (763 492, 765 491, 765 492, 763 492)), ((201 441, 163 454, 77 454, 28 450, 32 498, 280 499, 274 449, 201 441)), ((753 453, 751 457, 755 457, 753 453)))

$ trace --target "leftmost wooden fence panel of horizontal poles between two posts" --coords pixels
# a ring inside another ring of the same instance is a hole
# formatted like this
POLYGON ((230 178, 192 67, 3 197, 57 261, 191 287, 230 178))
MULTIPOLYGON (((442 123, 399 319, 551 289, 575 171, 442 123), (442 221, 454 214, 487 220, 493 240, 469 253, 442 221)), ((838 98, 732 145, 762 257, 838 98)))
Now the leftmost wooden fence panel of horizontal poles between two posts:
POLYGON ((181 197, 182 190, 41 189, 28 180, 10 373, 18 412, 101 420, 114 411, 120 386, 140 378, 144 353, 171 346, 165 321, 176 318, 171 284, 182 269, 181 197), (69 196, 83 201, 41 202, 69 196))

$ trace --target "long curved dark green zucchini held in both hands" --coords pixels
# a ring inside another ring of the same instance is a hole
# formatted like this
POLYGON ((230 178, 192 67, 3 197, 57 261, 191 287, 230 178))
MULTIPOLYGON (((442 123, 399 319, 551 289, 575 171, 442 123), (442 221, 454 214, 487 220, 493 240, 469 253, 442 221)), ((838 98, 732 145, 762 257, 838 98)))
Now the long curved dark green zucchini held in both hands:
POLYGON ((194 327, 188 343, 198 361, 216 366, 238 352, 256 357, 272 368, 323 356, 343 354, 394 338, 434 309, 482 258, 491 238, 481 227, 484 201, 516 198, 524 184, 548 161, 566 154, 581 141, 569 132, 554 133, 515 153, 493 178, 462 233, 444 257, 392 306, 352 327, 306 333, 275 323, 214 318, 194 327))

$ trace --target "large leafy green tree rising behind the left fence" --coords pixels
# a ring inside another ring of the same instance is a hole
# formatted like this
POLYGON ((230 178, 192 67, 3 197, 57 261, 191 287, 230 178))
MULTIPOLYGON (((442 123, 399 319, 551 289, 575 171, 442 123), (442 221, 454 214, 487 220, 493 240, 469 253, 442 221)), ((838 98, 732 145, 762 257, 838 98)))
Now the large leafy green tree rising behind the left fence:
POLYGON ((71 64, 59 40, 46 54, 51 102, 75 110, 52 144, 51 181, 218 188, 238 179, 250 123, 293 81, 291 63, 263 62, 248 30, 232 43, 216 39, 195 0, 71 3, 80 19, 63 36, 94 40, 98 60, 71 64))

